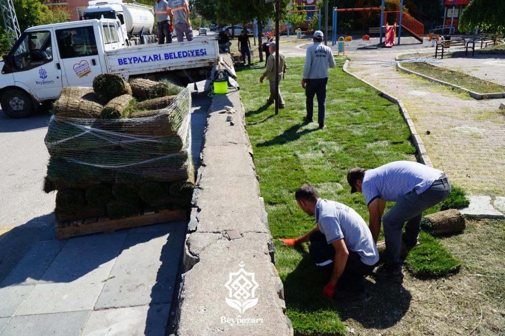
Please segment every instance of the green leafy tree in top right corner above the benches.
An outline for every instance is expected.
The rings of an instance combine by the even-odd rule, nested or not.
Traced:
[[[461,14],[460,31],[470,31],[477,28],[492,32],[505,31],[505,2],[473,0]]]

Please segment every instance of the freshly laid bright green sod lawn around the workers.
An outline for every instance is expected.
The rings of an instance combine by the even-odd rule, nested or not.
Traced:
[[[390,161],[414,160],[415,148],[398,106],[345,74],[341,65],[329,73],[325,122],[328,128],[318,129],[317,103],[315,123],[303,123],[305,91],[300,82],[304,59],[286,61],[287,73],[280,85],[286,108],[277,116],[274,105],[266,103],[268,83],[259,83],[264,68],[256,64],[237,69],[246,128],[274,237],[276,267],[284,283],[287,314],[295,333],[341,334],[345,328],[334,302],[322,295],[327,279],[311,261],[308,244],[293,248],[279,241],[282,237],[298,237],[315,226],[314,218],[296,205],[294,192],[301,184],[311,183],[321,197],[351,206],[368,221],[363,196],[350,194],[347,171],[354,166],[371,169]],[[435,271],[453,268],[450,253],[430,237],[422,236],[421,247],[439,256]],[[416,258],[411,269],[424,270],[426,263],[431,260]]]

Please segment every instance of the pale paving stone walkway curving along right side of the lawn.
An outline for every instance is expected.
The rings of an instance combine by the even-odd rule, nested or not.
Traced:
[[[505,115],[498,109],[505,99],[475,100],[376,62],[395,55],[349,53],[348,70],[403,101],[434,166],[453,185],[471,195],[505,194]]]

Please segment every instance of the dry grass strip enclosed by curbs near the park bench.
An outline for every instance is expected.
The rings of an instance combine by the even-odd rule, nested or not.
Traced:
[[[405,63],[402,64],[402,67],[477,93],[505,92],[505,86],[467,75],[461,71],[436,67],[427,63]]]

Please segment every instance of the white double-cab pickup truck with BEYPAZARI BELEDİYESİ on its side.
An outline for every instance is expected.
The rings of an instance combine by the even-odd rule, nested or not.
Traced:
[[[30,116],[64,86],[92,86],[114,73],[168,79],[179,85],[205,80],[219,63],[215,37],[191,42],[128,46],[118,20],[84,20],[28,28],[0,62],[0,104],[12,118]]]

